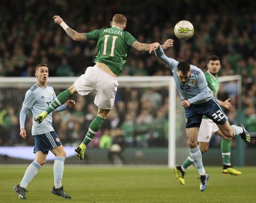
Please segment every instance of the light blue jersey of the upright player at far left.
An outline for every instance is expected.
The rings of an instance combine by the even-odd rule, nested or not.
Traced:
[[[42,88],[37,85],[37,83],[31,87],[25,95],[25,99],[22,105],[22,111],[20,114],[20,126],[25,127],[26,111],[31,109],[33,113],[33,125],[32,125],[32,135],[44,134],[53,131],[52,127],[52,113],[50,113],[44,122],[38,124],[34,118],[43,112],[50,103],[56,98],[53,87],[48,86]],[[66,105],[59,106],[55,111],[67,110]]]

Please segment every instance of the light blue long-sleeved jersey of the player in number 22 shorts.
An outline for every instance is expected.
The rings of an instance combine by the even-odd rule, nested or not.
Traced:
[[[177,67],[179,62],[173,58],[168,58],[163,49],[159,46],[155,50],[157,58],[164,62],[171,70],[174,80],[182,100],[190,101],[190,104],[201,104],[212,98],[213,94],[207,86],[205,74],[201,69],[194,65],[190,65],[191,74],[185,84],[181,83],[177,74]]]

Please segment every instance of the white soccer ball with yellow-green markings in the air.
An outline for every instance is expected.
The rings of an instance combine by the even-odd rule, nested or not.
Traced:
[[[180,40],[188,40],[194,34],[194,27],[189,21],[180,21],[174,27],[175,36]]]

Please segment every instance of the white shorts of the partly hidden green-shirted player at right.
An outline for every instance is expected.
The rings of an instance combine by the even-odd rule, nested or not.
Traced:
[[[209,142],[212,134],[216,133],[219,127],[211,119],[202,119],[197,141]]]

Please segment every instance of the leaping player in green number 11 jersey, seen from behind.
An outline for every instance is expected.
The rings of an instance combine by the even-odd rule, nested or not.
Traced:
[[[59,16],[55,15],[53,18],[55,24],[62,26],[73,40],[96,40],[97,56],[93,58],[95,66],[88,67],[71,87],[60,93],[45,112],[35,118],[35,121],[41,123],[50,112],[64,104],[74,94],[79,93],[84,96],[96,91],[94,103],[98,106],[98,114],[89,125],[83,142],[75,149],[77,157],[84,159],[86,145],[94,138],[113,107],[118,86],[117,76],[122,73],[127,57],[127,47],[131,46],[138,51],[148,51],[149,44],[138,42],[130,33],[124,31],[127,20],[121,14],[113,16],[110,28],[96,29],[89,33],[77,33],[69,28]],[[171,46],[172,41],[168,41],[161,47],[165,49]]]

